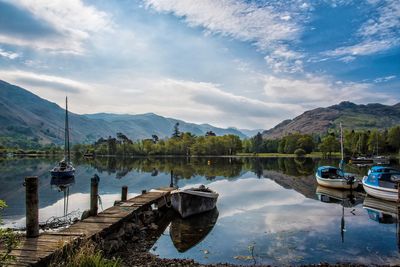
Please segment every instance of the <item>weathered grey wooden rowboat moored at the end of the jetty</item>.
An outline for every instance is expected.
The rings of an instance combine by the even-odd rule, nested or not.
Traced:
[[[215,208],[218,193],[206,188],[177,189],[171,192],[172,207],[182,216],[189,217]]]

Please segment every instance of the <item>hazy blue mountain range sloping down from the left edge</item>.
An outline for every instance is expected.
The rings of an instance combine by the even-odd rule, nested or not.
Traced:
[[[70,99],[73,101],[73,99]],[[65,110],[21,87],[0,80],[0,136],[29,137],[42,144],[63,143]],[[217,135],[235,134],[246,137],[239,130],[222,129],[208,124],[187,123],[153,113],[140,115],[86,114],[70,112],[72,143],[88,143],[100,137],[115,136],[122,132],[131,139],[170,136],[179,122],[181,131],[204,135],[213,131]]]

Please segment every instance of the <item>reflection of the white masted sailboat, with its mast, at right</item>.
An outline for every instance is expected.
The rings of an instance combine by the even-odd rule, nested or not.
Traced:
[[[340,190],[317,186],[316,194],[318,200],[325,203],[337,203],[342,206],[342,219],[340,221],[340,236],[344,242],[345,220],[344,208],[352,208],[362,203],[361,195],[353,190]]]

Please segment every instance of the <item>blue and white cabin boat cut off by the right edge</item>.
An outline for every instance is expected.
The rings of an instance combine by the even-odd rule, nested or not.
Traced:
[[[362,184],[368,195],[389,201],[399,200],[400,170],[375,166],[364,176]]]

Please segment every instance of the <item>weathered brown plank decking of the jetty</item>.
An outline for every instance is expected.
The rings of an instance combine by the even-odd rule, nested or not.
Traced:
[[[137,211],[144,210],[152,204],[164,205],[173,189],[171,187],[158,188],[141,194],[120,202],[100,212],[97,216],[79,221],[60,232],[42,233],[36,238],[23,237],[18,247],[11,252],[11,255],[15,256],[15,261],[9,266],[41,266],[63,249],[120,227],[123,221],[135,216]]]

